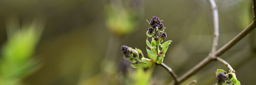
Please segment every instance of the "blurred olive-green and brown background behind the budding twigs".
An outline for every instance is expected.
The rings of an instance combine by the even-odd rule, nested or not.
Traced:
[[[219,11],[218,48],[253,20],[251,0],[215,0]],[[146,52],[153,16],[163,20],[173,40],[164,63],[180,77],[212,47],[208,0],[0,0],[0,85],[167,85],[160,67],[131,68],[120,47]],[[222,56],[242,85],[255,83],[256,30]],[[181,83],[216,83],[211,62]]]

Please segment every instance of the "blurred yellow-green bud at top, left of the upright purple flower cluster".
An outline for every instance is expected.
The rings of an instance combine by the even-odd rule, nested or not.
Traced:
[[[130,34],[143,16],[142,8],[141,0],[109,0],[104,6],[107,28],[117,36]]]

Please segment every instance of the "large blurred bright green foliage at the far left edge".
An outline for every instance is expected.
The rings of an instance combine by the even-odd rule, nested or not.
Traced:
[[[6,21],[8,39],[1,48],[0,84],[20,85],[20,79],[36,70],[38,61],[31,58],[43,31],[39,20],[24,24],[21,28],[17,18]]]

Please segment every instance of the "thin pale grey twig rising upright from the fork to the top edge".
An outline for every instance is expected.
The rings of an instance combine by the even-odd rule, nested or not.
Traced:
[[[212,51],[211,53],[216,51],[218,40],[219,40],[219,16],[218,16],[218,9],[217,5],[214,0],[209,0],[212,8],[212,18],[213,18],[213,27],[214,27],[214,38],[213,38],[213,44],[212,44]]]

